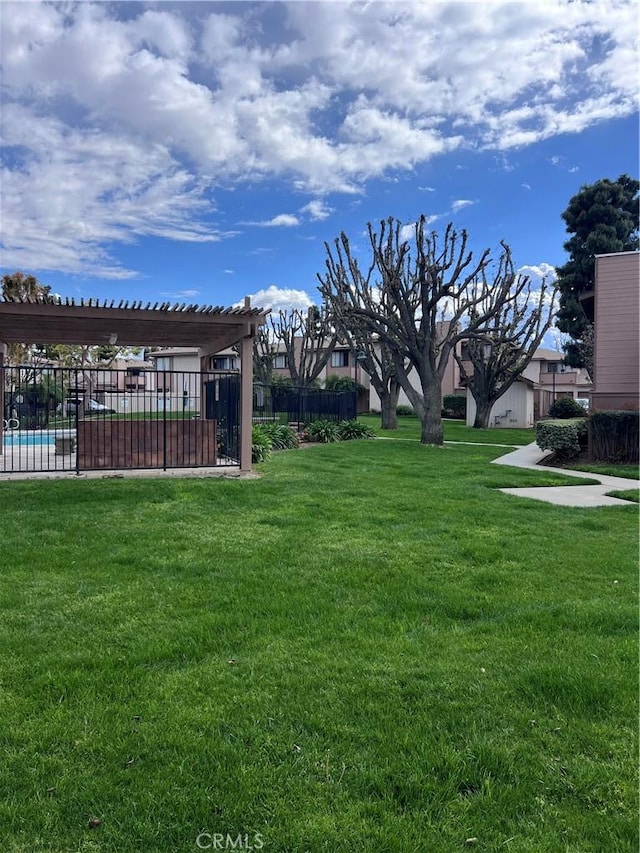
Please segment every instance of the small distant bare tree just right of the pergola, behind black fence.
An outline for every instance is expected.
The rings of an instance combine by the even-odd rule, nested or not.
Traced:
[[[271,314],[268,335],[277,351],[287,356],[291,381],[298,388],[318,379],[338,339],[327,313],[315,305],[306,314],[299,309]]]

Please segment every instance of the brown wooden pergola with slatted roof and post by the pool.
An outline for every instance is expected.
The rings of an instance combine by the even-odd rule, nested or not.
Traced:
[[[199,350],[200,369],[220,350],[238,345],[241,359],[240,470],[251,470],[253,408],[253,338],[268,310],[89,299],[76,301],[54,296],[5,297],[0,301],[0,368],[7,345],[50,343],[119,346],[193,346]],[[0,383],[0,412],[4,412],[4,385]],[[1,446],[1,445],[0,445]]]

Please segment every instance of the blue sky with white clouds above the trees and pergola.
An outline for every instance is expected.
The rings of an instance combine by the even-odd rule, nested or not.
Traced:
[[[635,2],[3,2],[2,272],[66,296],[317,297],[324,241],[421,213],[564,261],[638,173]]]

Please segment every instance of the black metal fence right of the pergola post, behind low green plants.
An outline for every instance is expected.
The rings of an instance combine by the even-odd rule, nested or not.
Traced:
[[[324,391],[254,385],[253,420],[305,424],[316,420],[345,421],[356,417],[355,391]]]

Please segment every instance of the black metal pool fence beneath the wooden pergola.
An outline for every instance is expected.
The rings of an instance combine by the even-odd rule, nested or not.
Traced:
[[[239,399],[238,374],[4,367],[0,471],[238,465]]]

